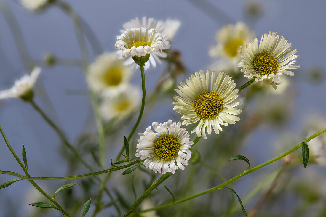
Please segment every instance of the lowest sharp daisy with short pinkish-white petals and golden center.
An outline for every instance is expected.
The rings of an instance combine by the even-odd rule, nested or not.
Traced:
[[[144,133],[139,133],[139,144],[137,145],[136,157],[144,161],[144,166],[154,172],[165,174],[175,173],[175,170],[185,169],[188,165],[191,151],[189,148],[194,144],[189,141],[189,133],[185,128],[181,128],[181,123],[171,120],[164,123],[152,123],[146,128]],[[176,164],[175,164],[176,163]]]

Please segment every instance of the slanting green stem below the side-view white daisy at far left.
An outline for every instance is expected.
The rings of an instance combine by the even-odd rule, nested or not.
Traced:
[[[84,160],[82,157],[79,155],[77,150],[75,149],[74,146],[72,146],[69,141],[67,140],[65,134],[60,130],[60,128],[52,122],[52,120],[45,114],[45,112],[33,101],[27,101],[31,103],[33,108],[38,111],[38,113],[44,118],[44,120],[57,132],[63,143],[67,146],[68,149],[70,149],[71,152],[75,154],[75,156],[82,162],[82,164],[88,168],[89,170],[93,171],[93,168]]]

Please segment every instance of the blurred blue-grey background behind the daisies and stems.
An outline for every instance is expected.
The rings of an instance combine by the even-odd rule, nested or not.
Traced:
[[[19,23],[28,51],[34,61],[42,67],[35,87],[36,102],[62,127],[72,143],[82,132],[96,130],[95,123],[89,121],[92,109],[86,94],[87,84],[82,69],[59,65],[48,68],[42,64],[42,59],[47,52],[52,52],[59,58],[81,58],[71,20],[58,7],[49,7],[40,13],[32,13],[15,1],[5,0],[5,2]],[[326,80],[323,77],[319,82],[311,82],[309,72],[314,68],[324,71],[326,2],[322,0],[257,1],[262,10],[258,19],[251,19],[245,15],[245,7],[252,1],[209,1],[228,17],[219,11],[212,13],[211,9],[202,10],[193,2],[195,1],[70,0],[68,3],[91,26],[103,51],[116,50],[114,47],[116,35],[120,34],[122,24],[130,19],[147,16],[159,20],[167,18],[180,20],[182,25],[173,38],[172,47],[181,51],[188,73],[209,69],[207,66],[213,62],[208,56],[209,46],[215,45],[216,31],[227,23],[243,21],[250,26],[258,38],[266,32],[276,31],[292,42],[293,48],[298,49],[297,63],[301,68],[294,71],[293,78],[289,78],[292,82],[291,90],[293,89],[295,93],[289,125],[280,129],[267,126],[256,130],[248,138],[243,149],[238,152],[247,157],[255,156],[253,165],[262,163],[275,156],[273,145],[282,131],[300,134],[308,114],[325,115]],[[89,58],[93,62],[96,54],[90,52]],[[12,32],[3,14],[0,14],[0,65],[1,90],[10,88],[14,80],[27,73],[24,71]],[[164,68],[163,63],[146,72],[148,92],[154,88]],[[188,76],[189,74],[180,80]],[[141,87],[138,71],[132,83]],[[271,101],[274,100],[273,97],[277,95],[272,96]],[[180,120],[180,116],[172,111],[171,102],[172,99],[151,111],[140,128],[149,126],[153,121],[164,122],[171,117],[174,121]],[[30,174],[33,176],[67,175],[66,162],[59,152],[58,136],[29,104],[15,98],[0,101],[0,124],[19,155],[24,144]],[[127,127],[121,130],[129,132],[128,129]],[[114,142],[122,144],[122,139],[121,137]],[[108,159],[113,158],[119,149],[120,146],[111,149],[107,153]],[[22,173],[2,139],[0,153],[0,169]],[[309,169],[308,167],[306,170]],[[305,174],[307,173],[303,173],[302,176]],[[243,179],[241,185],[249,183],[250,177],[253,178],[254,175]],[[0,183],[10,179],[13,177],[1,175]],[[61,182],[56,181],[37,183],[40,183],[41,187],[46,186],[45,189],[50,191],[61,185]],[[6,207],[9,205],[17,208],[18,216],[25,216],[25,213],[31,209],[28,204],[36,202],[27,199],[28,189],[31,188],[28,181],[20,181],[1,189],[0,216],[7,216]],[[239,190],[239,195],[243,194],[241,191],[244,190]]]

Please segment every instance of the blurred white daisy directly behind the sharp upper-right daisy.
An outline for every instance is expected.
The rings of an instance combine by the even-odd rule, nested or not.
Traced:
[[[237,65],[240,46],[246,45],[253,37],[254,33],[243,22],[225,25],[216,33],[217,45],[210,48],[209,55],[214,58],[224,57]]]

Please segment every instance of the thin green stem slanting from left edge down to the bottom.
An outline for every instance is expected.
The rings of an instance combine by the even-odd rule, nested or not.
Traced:
[[[26,177],[29,177],[29,173],[27,171],[27,169],[25,168],[25,166],[22,164],[22,161],[19,159],[19,157],[17,156],[16,152],[13,150],[13,148],[11,147],[5,132],[3,131],[2,127],[0,126],[0,132],[2,134],[3,139],[5,140],[8,149],[10,150],[10,152],[12,153],[12,155],[15,157],[15,159],[17,160],[18,164],[22,167],[23,171],[26,174]],[[33,180],[29,180],[29,182],[32,183],[32,185],[42,194],[44,195],[48,200],[50,200],[63,214],[64,216],[67,217],[71,217],[66,210],[64,210],[60,204],[58,202],[56,202],[50,195],[48,195],[45,191],[43,191]]]

